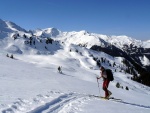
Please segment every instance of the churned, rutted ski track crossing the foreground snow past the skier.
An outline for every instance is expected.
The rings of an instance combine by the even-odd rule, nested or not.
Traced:
[[[87,101],[93,99],[99,98],[86,94],[51,91],[45,96],[39,94],[31,100],[18,98],[18,101],[12,103],[12,105],[8,105],[6,108],[1,108],[0,111],[2,113],[78,113],[82,111],[81,108],[88,103]],[[125,101],[110,100],[109,102],[150,109],[150,106]]]

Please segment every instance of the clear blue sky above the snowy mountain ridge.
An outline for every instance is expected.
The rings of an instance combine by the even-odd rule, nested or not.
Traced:
[[[27,30],[55,27],[150,39],[150,0],[0,0],[0,18]]]

